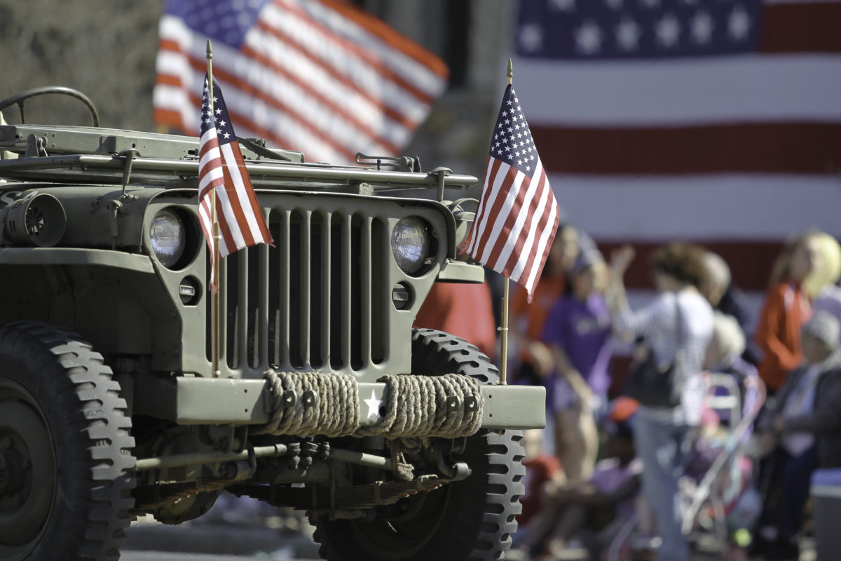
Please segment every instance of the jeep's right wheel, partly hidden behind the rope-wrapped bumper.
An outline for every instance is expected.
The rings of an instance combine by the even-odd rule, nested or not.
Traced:
[[[428,329],[412,334],[412,373],[463,373],[495,382],[488,358],[456,336]],[[405,513],[373,522],[314,520],[320,554],[331,561],[487,561],[510,548],[525,475],[519,431],[480,430],[468,437],[458,461],[472,474],[463,481],[414,495]]]

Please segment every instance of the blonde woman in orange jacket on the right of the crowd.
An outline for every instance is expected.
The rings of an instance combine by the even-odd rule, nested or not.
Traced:
[[[786,374],[803,358],[800,330],[812,315],[812,306],[801,284],[812,273],[818,251],[815,235],[797,236],[785,243],[771,272],[755,336],[764,353],[759,377],[770,393],[780,389]]]

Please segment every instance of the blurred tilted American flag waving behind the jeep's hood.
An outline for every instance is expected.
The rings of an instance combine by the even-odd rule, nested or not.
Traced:
[[[194,130],[208,39],[240,135],[310,161],[399,154],[447,83],[440,59],[349,3],[168,0],[156,124]]]

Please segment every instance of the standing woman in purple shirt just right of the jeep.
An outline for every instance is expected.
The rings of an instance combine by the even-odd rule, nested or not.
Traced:
[[[611,315],[603,294],[606,267],[599,251],[581,251],[569,271],[572,294],[549,312],[543,341],[553,347],[547,379],[555,454],[571,483],[590,477],[599,447],[594,411],[611,384]]]

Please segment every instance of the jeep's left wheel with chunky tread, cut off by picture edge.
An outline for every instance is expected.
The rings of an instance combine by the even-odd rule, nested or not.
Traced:
[[[0,327],[0,560],[119,558],[135,484],[124,410],[79,336]]]

